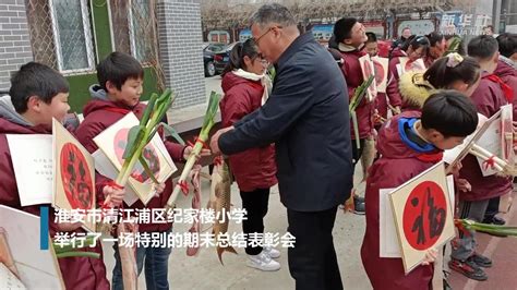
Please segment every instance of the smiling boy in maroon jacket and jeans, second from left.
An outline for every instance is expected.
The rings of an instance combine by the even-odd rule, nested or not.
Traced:
[[[129,112],[134,112],[141,118],[145,110],[145,105],[140,102],[142,95],[142,85],[144,80],[144,70],[140,62],[133,57],[112,52],[97,65],[97,78],[99,85],[89,87],[92,100],[85,106],[84,121],[77,128],[76,134],[79,141],[89,153],[97,149],[93,138],[105,129],[116,123]],[[192,147],[184,147],[166,141],[165,146],[172,160],[183,161],[192,152]],[[99,174],[98,174],[99,176]],[[110,188],[109,180],[106,178],[97,179],[98,192],[105,193],[106,188]],[[109,189],[111,190],[111,189]],[[141,201],[125,208],[164,208],[167,200],[172,193],[172,181],[168,179],[165,182],[165,189],[158,196],[152,198],[146,206]],[[103,201],[104,195],[98,200]],[[171,231],[171,223],[144,223],[139,225],[140,232],[149,234],[167,233]],[[122,289],[122,269],[118,244],[113,245],[116,265],[113,269],[113,289]],[[136,264],[139,274],[142,271],[145,263],[145,281],[148,289],[168,288],[168,259],[171,249],[168,247],[137,247]]]

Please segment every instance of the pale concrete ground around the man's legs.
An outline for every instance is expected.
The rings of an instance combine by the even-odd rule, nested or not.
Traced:
[[[207,168],[204,168],[207,172]],[[209,183],[202,178],[202,206],[209,197]],[[179,207],[189,208],[192,195],[180,195]],[[237,185],[231,188],[231,203],[236,208],[242,208]],[[177,223],[173,232],[188,231],[191,225]],[[202,227],[207,229],[208,225]],[[269,197],[269,209],[265,218],[265,231],[278,232],[280,235],[287,231],[286,208],[281,205],[277,186],[273,188]],[[364,216],[345,214],[339,210],[334,227],[334,241],[341,270],[341,278],[346,289],[370,289],[369,280],[362,269],[359,247],[364,231]],[[241,225],[230,223],[229,232],[242,232]],[[111,280],[112,244],[104,245],[105,263],[108,269],[108,279]],[[245,266],[243,249],[237,249],[238,255],[225,253],[220,265],[215,249],[201,249],[195,257],[187,256],[185,249],[175,249],[169,261],[169,282],[171,289],[293,289],[294,281],[289,275],[287,266],[287,249],[278,247],[281,252],[278,262],[281,268],[274,273],[264,273]],[[145,289],[144,275],[139,278],[139,288]]]

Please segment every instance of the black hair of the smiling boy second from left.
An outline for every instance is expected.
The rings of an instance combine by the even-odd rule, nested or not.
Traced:
[[[130,55],[111,52],[97,65],[97,80],[105,90],[108,81],[121,89],[128,78],[144,78],[144,69]]]

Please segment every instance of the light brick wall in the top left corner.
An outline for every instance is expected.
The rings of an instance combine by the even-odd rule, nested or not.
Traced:
[[[0,90],[10,87],[11,72],[33,60],[24,0],[0,1]]]

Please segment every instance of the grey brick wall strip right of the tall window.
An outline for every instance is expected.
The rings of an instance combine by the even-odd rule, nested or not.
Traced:
[[[200,0],[158,0],[159,58],[173,108],[206,101]]]

